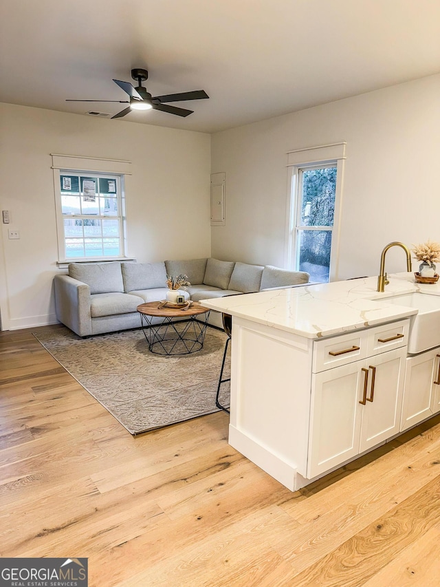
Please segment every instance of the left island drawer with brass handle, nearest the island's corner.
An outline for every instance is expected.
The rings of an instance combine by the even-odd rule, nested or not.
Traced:
[[[341,334],[314,342],[314,359],[312,370],[320,373],[339,365],[348,365],[353,361],[365,359],[367,351],[367,334],[365,330]]]

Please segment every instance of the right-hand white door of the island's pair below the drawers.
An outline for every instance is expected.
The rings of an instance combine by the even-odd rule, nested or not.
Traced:
[[[359,452],[391,438],[400,430],[404,392],[406,348],[366,359],[369,369],[369,396],[362,410]]]

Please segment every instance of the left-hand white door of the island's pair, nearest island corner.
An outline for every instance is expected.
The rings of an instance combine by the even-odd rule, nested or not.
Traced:
[[[359,453],[364,363],[355,361],[312,376],[309,479]]]

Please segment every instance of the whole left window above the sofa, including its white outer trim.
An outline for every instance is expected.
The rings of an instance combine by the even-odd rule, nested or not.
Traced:
[[[58,263],[126,257],[124,187],[129,162],[61,155],[52,155],[52,160]],[[78,171],[79,164],[85,171]],[[94,165],[100,171],[91,171]]]

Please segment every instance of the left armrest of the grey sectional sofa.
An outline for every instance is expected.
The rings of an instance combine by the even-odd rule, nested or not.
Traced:
[[[90,288],[69,275],[55,275],[57,319],[80,337],[91,334]]]

